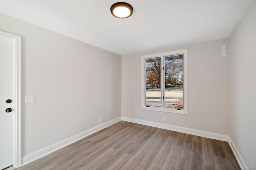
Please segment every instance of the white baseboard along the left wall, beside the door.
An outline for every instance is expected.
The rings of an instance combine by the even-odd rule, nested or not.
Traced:
[[[27,154],[21,158],[21,166],[24,166],[30,162],[33,162],[34,160],[37,160],[39,158],[42,158],[43,156],[46,156],[56,150],[59,150],[63,147],[66,147],[67,145],[70,145],[71,143],[74,143],[88,135],[91,135],[92,133],[95,133],[97,131],[100,131],[101,129],[104,129],[105,127],[108,127],[118,121],[121,120],[121,117],[118,117],[116,119],[113,119],[111,121],[108,121],[106,123],[102,123],[101,125],[98,125],[96,127],[93,127],[91,129],[88,129],[86,131],[83,131],[81,133],[78,133],[77,135],[74,135],[72,137],[69,137],[67,139],[64,139],[60,142],[54,143],[48,147],[45,147],[43,149],[37,150],[33,153]]]

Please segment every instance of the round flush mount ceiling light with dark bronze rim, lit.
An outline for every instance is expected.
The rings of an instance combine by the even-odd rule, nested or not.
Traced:
[[[128,18],[132,15],[133,8],[126,2],[116,2],[111,6],[110,11],[116,18]]]

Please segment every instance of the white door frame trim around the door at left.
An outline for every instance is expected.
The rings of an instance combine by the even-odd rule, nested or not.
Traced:
[[[21,37],[0,31],[0,36],[14,40],[14,119],[13,119],[13,166],[21,166]]]

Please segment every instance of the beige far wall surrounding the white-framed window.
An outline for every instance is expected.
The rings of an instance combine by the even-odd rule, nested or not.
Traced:
[[[122,116],[228,134],[229,41],[227,38],[122,56]],[[222,45],[227,45],[227,57],[221,57]],[[188,115],[142,110],[140,56],[186,48]]]

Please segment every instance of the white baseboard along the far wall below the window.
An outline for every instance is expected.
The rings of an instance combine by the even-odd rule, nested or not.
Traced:
[[[210,139],[216,139],[216,140],[220,140],[220,141],[228,141],[228,135],[223,135],[223,134],[219,134],[219,133],[212,133],[212,132],[201,131],[201,130],[197,130],[197,129],[190,129],[187,127],[168,125],[168,124],[164,124],[164,123],[156,123],[153,121],[146,121],[146,120],[134,119],[134,118],[123,117],[123,116],[122,116],[122,120],[129,121],[132,123],[138,123],[138,124],[142,124],[142,125],[152,126],[152,127],[158,127],[161,129],[167,129],[167,130],[171,130],[171,131],[187,133],[190,135],[207,137]]]

